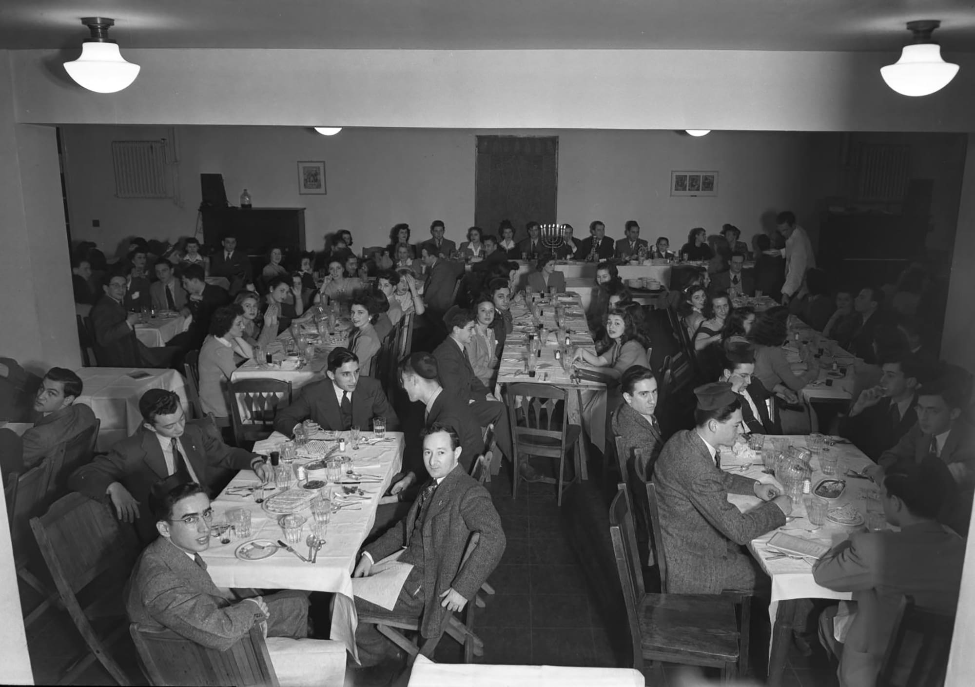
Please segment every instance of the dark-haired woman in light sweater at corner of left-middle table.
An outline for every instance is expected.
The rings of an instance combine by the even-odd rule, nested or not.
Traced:
[[[210,336],[200,347],[200,403],[204,413],[213,413],[215,418],[230,415],[230,376],[253,357],[254,349],[244,340],[243,309],[239,305],[217,308],[210,321]]]

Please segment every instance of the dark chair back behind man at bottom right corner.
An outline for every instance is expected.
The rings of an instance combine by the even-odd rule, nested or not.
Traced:
[[[918,608],[902,596],[877,687],[941,687],[952,650],[955,617]]]

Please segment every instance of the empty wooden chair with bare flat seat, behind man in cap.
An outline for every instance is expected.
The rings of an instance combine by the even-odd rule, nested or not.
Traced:
[[[739,658],[734,605],[712,594],[648,594],[643,587],[633,516],[626,485],[620,484],[609,506],[609,534],[623,589],[633,649],[633,667],[643,662],[720,667],[725,679],[735,675]]]

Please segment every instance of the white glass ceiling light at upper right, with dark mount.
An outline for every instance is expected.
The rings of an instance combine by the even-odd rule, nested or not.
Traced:
[[[902,96],[930,96],[955,78],[958,65],[942,60],[941,46],[931,38],[940,25],[938,20],[908,21],[912,43],[904,46],[900,60],[880,67],[887,86]]]

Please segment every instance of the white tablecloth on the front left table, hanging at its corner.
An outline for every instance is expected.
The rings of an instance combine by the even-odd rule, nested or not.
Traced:
[[[347,435],[347,432],[344,434]],[[203,553],[207,561],[207,572],[214,579],[216,586],[253,586],[258,588],[306,589],[311,591],[331,591],[335,593],[335,606],[331,618],[331,638],[345,643],[345,646],[356,656],[355,630],[356,611],[352,601],[352,571],[356,564],[356,555],[375,522],[375,510],[379,505],[379,498],[389,488],[393,475],[400,471],[403,465],[403,433],[397,431],[386,432],[390,441],[374,445],[362,445],[358,451],[351,449],[345,455],[351,456],[353,466],[361,472],[382,476],[378,484],[363,485],[363,489],[370,492],[370,500],[364,501],[359,510],[342,508],[332,513],[329,523],[326,545],[318,552],[318,561],[311,565],[298,560],[296,556],[286,550],[278,550],[270,558],[259,561],[242,561],[236,558],[234,551],[244,540],[221,545],[212,540],[210,548]],[[363,432],[364,438],[370,438],[371,432]],[[254,444],[254,452],[267,454],[286,437],[274,432],[263,441]],[[298,459],[293,465],[303,465],[307,460]],[[251,470],[241,470],[227,485],[227,489],[243,484],[254,484],[256,475]],[[268,495],[274,492],[268,492]],[[251,537],[249,540],[266,539],[272,542],[284,539],[284,533],[278,526],[277,515],[263,510],[261,505],[254,503],[251,497],[228,496],[226,489],[214,501],[218,514],[229,508],[247,508],[251,511]],[[308,509],[301,514],[311,520]],[[302,530],[304,536],[310,531],[306,523]],[[295,550],[307,553],[304,544],[295,546]]]

